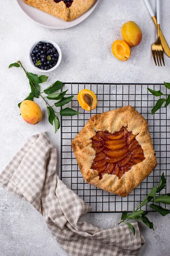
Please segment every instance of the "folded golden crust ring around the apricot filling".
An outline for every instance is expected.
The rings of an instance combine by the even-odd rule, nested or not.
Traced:
[[[91,169],[96,156],[91,138],[97,131],[108,131],[113,134],[122,127],[127,127],[127,131],[136,135],[135,139],[141,145],[145,159],[133,165],[120,179],[107,173],[99,179],[98,171]],[[147,121],[131,106],[92,116],[71,145],[85,181],[122,197],[126,197],[139,186],[157,165]]]

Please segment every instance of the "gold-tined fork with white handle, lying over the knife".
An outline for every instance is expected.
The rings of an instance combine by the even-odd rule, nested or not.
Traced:
[[[160,65],[162,67],[161,64],[161,59],[164,65],[164,50],[161,44],[161,38],[160,38],[160,0],[156,0],[156,9],[157,9],[157,30],[158,30],[158,37],[156,42],[152,45],[152,55],[153,55],[153,59],[155,61],[156,64],[156,60],[159,66],[159,62]],[[157,64],[156,64],[157,66]]]

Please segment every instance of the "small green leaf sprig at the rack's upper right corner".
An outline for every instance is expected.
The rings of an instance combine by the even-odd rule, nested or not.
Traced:
[[[170,89],[170,83],[164,82],[164,86],[167,89]],[[164,93],[162,93],[160,90],[156,91],[156,90],[152,90],[150,88],[147,88],[147,90],[150,91],[150,93],[152,93],[156,97],[164,95]],[[161,108],[161,106],[164,104],[164,102],[166,102],[164,107],[167,107],[170,104],[170,94],[168,94],[168,96],[167,95],[164,95],[164,96],[166,96],[167,98],[166,99],[161,98],[156,102],[156,105],[154,106],[154,108],[151,111],[152,115]]]

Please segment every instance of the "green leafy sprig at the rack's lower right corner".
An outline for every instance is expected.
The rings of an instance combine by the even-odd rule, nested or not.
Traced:
[[[142,221],[144,224],[147,225],[150,229],[153,229],[153,223],[149,221],[149,219],[146,217],[147,212],[144,212],[141,210],[141,207],[144,205],[147,205],[150,201],[153,201],[153,204],[147,205],[150,208],[154,209],[156,212],[158,212],[160,215],[165,216],[170,213],[168,209],[165,209],[157,204],[162,203],[162,204],[170,204],[170,194],[165,194],[165,195],[159,195],[156,196],[156,193],[159,193],[164,187],[166,186],[166,179],[164,177],[164,173],[161,175],[161,180],[159,182],[159,186],[155,186],[152,188],[151,192],[147,197],[144,199],[142,204],[140,204],[135,211],[127,215],[127,212],[122,212],[122,217],[121,221],[118,223],[118,225],[122,222],[127,224],[127,226],[132,230],[133,235],[135,236],[135,228],[133,227],[132,224],[125,222],[125,220],[128,219],[139,219]],[[155,203],[155,204],[154,204]]]

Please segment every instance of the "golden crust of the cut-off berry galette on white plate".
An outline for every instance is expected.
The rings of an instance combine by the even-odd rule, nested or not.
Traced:
[[[71,21],[87,12],[95,0],[74,0],[69,8],[63,1],[55,3],[54,0],[24,0],[24,2],[62,20]]]

